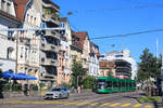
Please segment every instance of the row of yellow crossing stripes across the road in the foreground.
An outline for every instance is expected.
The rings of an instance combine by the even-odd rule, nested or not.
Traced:
[[[143,104],[130,104],[130,103],[89,103],[89,102],[60,102],[60,100],[40,100],[40,102],[25,102],[25,100],[14,100],[14,102],[3,102],[1,104],[51,104],[51,105],[63,105],[63,106],[99,106],[100,108],[106,108],[106,107],[112,107],[112,108],[154,108],[152,105],[143,105]]]

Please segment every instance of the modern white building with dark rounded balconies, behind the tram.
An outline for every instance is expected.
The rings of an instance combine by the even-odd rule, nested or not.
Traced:
[[[136,62],[131,57],[129,50],[123,50],[122,52],[109,52],[100,59],[115,60],[116,72],[121,78],[135,79],[137,73]]]

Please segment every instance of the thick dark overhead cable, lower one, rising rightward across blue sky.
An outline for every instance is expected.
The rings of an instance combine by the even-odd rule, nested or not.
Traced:
[[[118,38],[118,37],[128,37],[128,36],[141,35],[141,33],[159,32],[159,31],[163,31],[163,29],[152,29],[152,30],[138,31],[138,32],[130,32],[130,33],[125,33],[125,35],[113,35],[113,36],[105,36],[105,37],[95,37],[95,38],[90,38],[90,39],[95,40],[95,39],[105,39],[105,38]]]

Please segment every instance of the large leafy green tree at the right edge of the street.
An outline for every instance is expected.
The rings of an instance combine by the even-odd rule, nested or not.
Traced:
[[[140,59],[141,62],[138,63],[137,81],[141,85],[146,82],[150,86],[153,84],[151,79],[156,79],[160,76],[161,58],[158,59],[149,52],[149,49],[145,49]]]

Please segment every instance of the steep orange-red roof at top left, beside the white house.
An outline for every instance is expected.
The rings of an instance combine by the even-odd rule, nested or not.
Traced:
[[[13,0],[16,16],[21,22],[24,19],[25,9],[28,1],[29,0]]]

